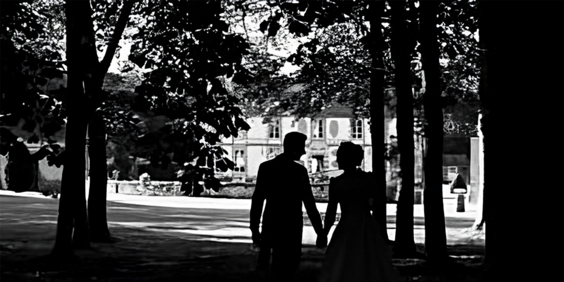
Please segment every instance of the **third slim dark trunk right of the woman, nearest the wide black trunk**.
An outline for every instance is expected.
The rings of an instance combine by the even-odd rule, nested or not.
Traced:
[[[423,105],[427,125],[425,154],[425,253],[433,261],[447,257],[447,235],[443,204],[443,109],[440,103],[437,8],[439,2],[420,2],[421,56],[425,70]]]

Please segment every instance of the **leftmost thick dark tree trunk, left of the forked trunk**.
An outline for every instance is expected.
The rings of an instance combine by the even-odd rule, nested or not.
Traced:
[[[65,2],[67,16],[67,127],[65,131],[65,160],[59,217],[54,254],[67,255],[72,248],[87,248],[90,245],[86,214],[85,170],[86,160],[86,108],[83,81],[86,75],[82,54],[85,46],[94,45],[85,33],[90,20],[90,3],[85,1]],[[91,25],[91,20],[90,20]]]

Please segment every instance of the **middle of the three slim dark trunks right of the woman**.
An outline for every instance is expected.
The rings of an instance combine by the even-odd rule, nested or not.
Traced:
[[[415,154],[413,152],[413,92],[411,89],[411,42],[406,27],[406,3],[390,1],[391,55],[395,65],[397,103],[398,151],[402,173],[402,190],[398,199],[395,245],[396,255],[415,254],[413,236],[413,197],[415,183]]]

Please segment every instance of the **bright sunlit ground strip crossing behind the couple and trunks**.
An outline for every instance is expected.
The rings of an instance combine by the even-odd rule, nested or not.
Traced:
[[[55,231],[58,200],[39,193],[0,191],[0,223],[2,239],[17,233],[29,224],[52,224]],[[324,213],[327,203],[317,203]],[[387,228],[391,240],[395,237],[395,204],[387,205]],[[248,199],[217,199],[205,197],[164,197],[108,194],[109,227],[136,228],[185,240],[206,240],[251,243]],[[305,209],[303,209],[305,213]],[[340,210],[337,210],[340,213]],[[456,213],[456,202],[445,200],[448,244],[479,244],[483,238],[472,239],[468,228],[474,222],[475,211]],[[425,243],[423,205],[415,205],[415,243]],[[303,228],[305,245],[315,245],[316,235],[307,215]],[[333,228],[334,230],[334,228]],[[329,233],[331,238],[332,232]]]

